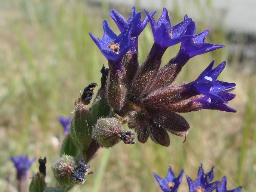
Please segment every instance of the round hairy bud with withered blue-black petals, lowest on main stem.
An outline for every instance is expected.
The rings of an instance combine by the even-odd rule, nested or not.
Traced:
[[[71,156],[63,155],[62,158],[51,166],[53,176],[61,186],[83,184],[87,174],[91,174],[85,164],[79,161],[78,166]]]

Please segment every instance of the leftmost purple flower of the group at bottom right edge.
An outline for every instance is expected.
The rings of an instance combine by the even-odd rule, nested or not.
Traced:
[[[162,191],[164,192],[176,192],[179,189],[179,185],[181,184],[182,176],[183,176],[183,170],[181,170],[181,173],[176,178],[175,175],[172,172],[172,168],[169,166],[168,173],[164,179],[159,177],[157,174],[153,173],[155,176],[155,179],[159,183]]]

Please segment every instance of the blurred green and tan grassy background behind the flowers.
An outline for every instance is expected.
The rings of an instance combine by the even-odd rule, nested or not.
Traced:
[[[75,186],[80,191],[161,191],[153,172],[161,177],[172,166],[176,176],[184,169],[180,192],[188,191],[185,175],[197,177],[203,163],[205,172],[215,166],[215,180],[227,177],[228,190],[243,186],[256,189],[256,14],[253,0],[1,0],[0,1],[0,191],[15,191],[15,167],[9,156],[28,154],[47,157],[48,186],[55,186],[50,165],[59,158],[64,139],[57,116],[69,117],[74,101],[89,83],[100,85],[102,65],[107,60],[90,39],[103,35],[102,21],[119,34],[109,11],[116,9],[126,19],[132,6],[137,12],[163,6],[172,25],[192,18],[197,32],[210,30],[206,42],[224,48],[196,56],[184,66],[176,84],[191,82],[210,64],[227,66],[219,80],[236,83],[237,96],[228,105],[231,114],[201,110],[183,114],[190,123],[186,142],[170,135],[166,148],[148,140],[145,144],[120,144],[100,149],[89,163],[93,175]],[[139,37],[139,57],[144,61],[154,42],[150,25]],[[180,44],[167,49],[163,65],[173,58]],[[96,90],[97,91],[97,90]],[[127,128],[127,127],[126,127]],[[128,128],[127,128],[128,129]],[[57,137],[56,137],[57,136]],[[38,162],[31,166],[38,171]],[[6,180],[9,178],[9,181]],[[11,187],[13,186],[13,187]]]

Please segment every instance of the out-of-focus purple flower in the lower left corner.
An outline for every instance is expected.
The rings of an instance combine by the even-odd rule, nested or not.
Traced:
[[[26,177],[29,168],[32,165],[32,163],[35,161],[36,158],[33,158],[32,160],[28,159],[28,155],[21,155],[16,157],[10,157],[10,160],[14,163],[17,171],[17,179],[21,180],[21,177]]]

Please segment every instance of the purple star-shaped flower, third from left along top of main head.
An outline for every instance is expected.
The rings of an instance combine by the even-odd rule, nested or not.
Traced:
[[[152,28],[155,43],[160,44],[161,48],[164,49],[180,43],[183,40],[193,38],[192,35],[184,35],[189,22],[192,21],[191,18],[187,18],[181,23],[172,27],[168,16],[168,11],[165,7],[163,9],[163,14],[160,16],[157,22],[155,22],[153,16],[149,12],[146,10],[145,12]]]

